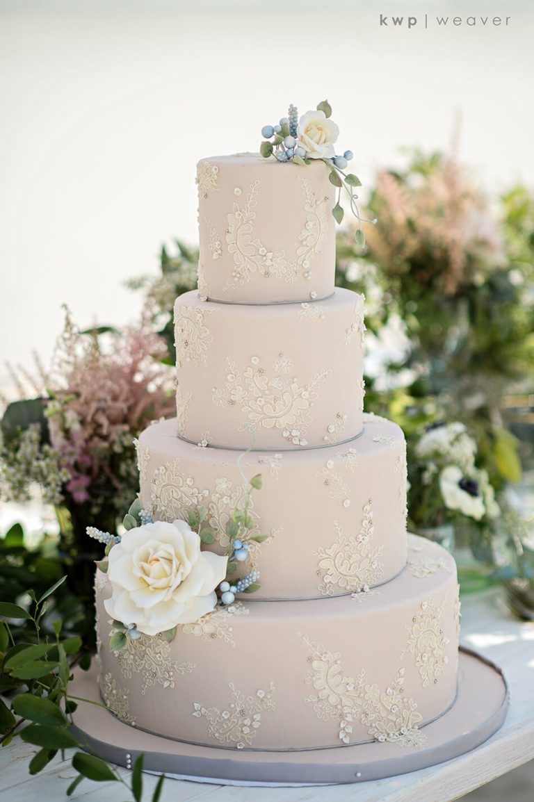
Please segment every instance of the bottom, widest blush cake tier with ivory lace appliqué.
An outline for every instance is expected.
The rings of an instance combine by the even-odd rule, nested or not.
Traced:
[[[110,650],[111,595],[97,572],[99,685],[125,723],[207,746],[304,750],[373,740],[423,745],[456,695],[455,561],[409,537],[407,566],[379,589],[309,601],[245,597]]]

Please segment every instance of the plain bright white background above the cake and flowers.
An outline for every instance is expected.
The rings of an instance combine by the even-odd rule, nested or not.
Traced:
[[[508,28],[378,26],[499,14]],[[493,190],[534,184],[532,2],[0,0],[2,359],[49,358],[67,302],[122,323],[162,241],[196,239],[196,160],[328,97],[369,181],[398,148],[461,152]],[[0,367],[0,375],[3,373]]]

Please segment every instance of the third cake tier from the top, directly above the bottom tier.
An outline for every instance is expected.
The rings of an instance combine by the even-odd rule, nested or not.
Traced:
[[[140,435],[140,496],[157,519],[187,517],[202,505],[216,533],[210,549],[225,553],[226,524],[241,507],[247,480],[261,473],[251,497],[250,569],[261,572],[255,598],[338,596],[374,587],[406,563],[406,444],[388,420],[365,415],[350,444],[305,452],[239,453],[188,444],[176,419]]]

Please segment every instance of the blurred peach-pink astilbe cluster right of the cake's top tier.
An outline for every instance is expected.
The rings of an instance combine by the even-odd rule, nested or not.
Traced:
[[[504,261],[499,222],[454,156],[416,162],[401,175],[378,172],[373,213],[370,257],[402,282],[453,296]]]

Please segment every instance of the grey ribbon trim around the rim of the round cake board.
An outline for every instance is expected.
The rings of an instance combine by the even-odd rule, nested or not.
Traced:
[[[205,749],[204,755],[180,755],[148,751],[147,749],[128,749],[115,743],[106,743],[89,735],[79,727],[73,726],[72,729],[88,751],[94,752],[96,755],[111,761],[111,763],[122,766],[126,763],[131,765],[139,755],[144,754],[145,771],[165,772],[171,776],[180,776],[191,780],[202,779],[212,782],[221,781],[228,784],[235,782],[236,784],[253,785],[348,784],[367,780],[382,780],[385,777],[415,772],[421,768],[434,766],[459,757],[459,755],[463,755],[484,743],[503,724],[509,703],[508,683],[504,678],[503,671],[494,662],[471,649],[461,646],[460,651],[465,654],[471,654],[471,656],[500,674],[504,684],[504,699],[500,707],[472,731],[462,732],[446,743],[435,747],[422,750],[415,749],[414,751],[399,750],[398,757],[394,758],[366,759],[362,764],[358,764],[358,747],[354,744],[347,746],[338,744],[334,747],[344,750],[343,754],[346,755],[344,763],[324,763],[314,756],[305,759],[305,752],[299,764],[292,764],[283,758],[278,762],[276,760],[261,761],[259,758],[257,760],[243,760],[240,759],[241,750],[237,752],[235,749],[227,751],[225,757],[221,758],[214,755],[212,745],[199,747]],[[102,712],[105,715],[107,711]],[[127,727],[126,724],[123,726],[126,729],[126,733],[131,731],[131,727]],[[158,737],[161,736],[159,735]],[[351,751],[353,746],[355,747],[354,751]],[[378,754],[380,754],[380,747],[382,747],[382,744],[377,743]],[[276,752],[272,754],[276,754]],[[284,752],[281,751],[278,754],[283,755]]]

